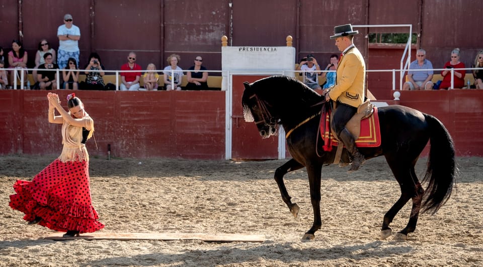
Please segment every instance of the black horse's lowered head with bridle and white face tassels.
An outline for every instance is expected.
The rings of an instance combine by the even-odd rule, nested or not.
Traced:
[[[262,138],[277,135],[279,118],[272,115],[271,106],[251,88],[251,84],[244,82],[242,104],[245,121],[255,122]]]

